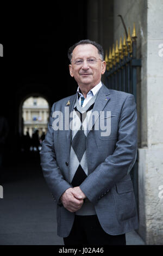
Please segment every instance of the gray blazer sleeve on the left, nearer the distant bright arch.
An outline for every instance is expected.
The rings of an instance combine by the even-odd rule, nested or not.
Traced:
[[[62,193],[67,190],[67,188],[71,187],[71,185],[62,176],[61,170],[56,161],[53,139],[53,133],[55,131],[52,127],[54,105],[55,103],[52,106],[51,116],[48,123],[48,131],[46,133],[45,140],[42,143],[40,157],[43,176],[45,177],[45,180],[53,194],[54,200],[60,204],[59,198],[61,197]]]

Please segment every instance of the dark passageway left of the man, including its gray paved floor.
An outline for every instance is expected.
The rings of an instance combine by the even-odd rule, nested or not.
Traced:
[[[51,107],[76,92],[67,50],[87,37],[86,1],[11,5],[0,18],[0,116],[8,125],[0,161],[0,245],[59,245],[55,204],[43,179],[39,152],[22,152],[18,143],[20,109],[29,95],[45,97]]]

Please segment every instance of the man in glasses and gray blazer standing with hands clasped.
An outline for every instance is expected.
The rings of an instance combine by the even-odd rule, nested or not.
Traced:
[[[58,235],[65,245],[126,245],[126,232],[138,228],[129,175],[137,150],[134,96],[101,82],[106,63],[96,42],[77,42],[68,58],[77,93],[53,104],[40,152]]]

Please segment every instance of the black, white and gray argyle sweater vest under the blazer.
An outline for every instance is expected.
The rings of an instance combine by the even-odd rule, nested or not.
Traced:
[[[86,155],[87,127],[96,96],[97,94],[91,98],[85,107],[79,105],[78,98],[74,105],[70,150],[70,182],[73,187],[80,186],[88,174]],[[84,200],[82,208],[76,212],[76,215],[95,214],[95,208],[88,199]]]

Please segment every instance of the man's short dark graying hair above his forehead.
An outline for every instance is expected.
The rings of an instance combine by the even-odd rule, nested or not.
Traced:
[[[77,47],[78,45],[88,45],[88,44],[94,45],[97,48],[97,50],[98,50],[99,56],[102,58],[102,60],[104,60],[104,50],[103,50],[103,47],[101,45],[99,45],[95,41],[91,41],[89,39],[85,39],[85,40],[81,40],[79,42],[76,42],[76,44],[72,45],[68,49],[68,59],[70,60],[70,62],[71,62],[71,59],[72,59],[72,52],[73,52],[74,48]]]

